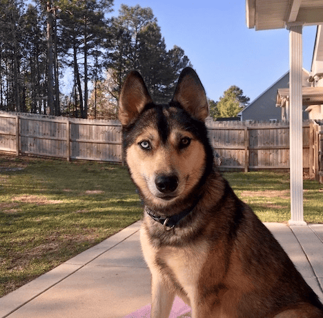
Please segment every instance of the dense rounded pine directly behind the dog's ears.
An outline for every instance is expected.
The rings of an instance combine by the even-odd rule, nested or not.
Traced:
[[[121,6],[112,19],[112,49],[108,57],[109,74],[115,79],[110,92],[119,98],[121,83],[130,70],[138,70],[157,103],[166,103],[173,95],[179,73],[191,66],[184,50],[175,46],[167,52],[164,38],[151,8]]]

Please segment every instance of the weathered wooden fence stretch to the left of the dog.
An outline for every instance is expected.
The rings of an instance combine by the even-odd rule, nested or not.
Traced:
[[[0,150],[121,163],[121,126],[119,121],[0,113]]]

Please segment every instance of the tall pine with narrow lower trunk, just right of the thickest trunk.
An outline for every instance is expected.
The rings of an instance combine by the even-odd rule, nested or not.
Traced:
[[[88,61],[89,58],[92,59],[97,55],[98,47],[101,45],[98,39],[102,37],[106,24],[104,12],[110,11],[112,0],[61,0],[58,2],[62,10],[59,18],[63,52],[72,57],[66,63],[74,70],[80,115],[82,118],[86,118],[88,112],[88,69],[90,69]],[[79,62],[80,59],[83,61],[83,66]],[[83,82],[82,79],[84,79]],[[82,83],[84,83],[84,90]]]

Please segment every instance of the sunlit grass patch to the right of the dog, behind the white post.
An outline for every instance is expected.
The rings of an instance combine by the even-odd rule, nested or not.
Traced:
[[[233,190],[263,222],[291,219],[289,174],[282,172],[225,173]],[[304,179],[304,220],[323,223],[323,185]]]

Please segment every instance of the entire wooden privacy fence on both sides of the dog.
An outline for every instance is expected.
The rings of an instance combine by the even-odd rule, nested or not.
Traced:
[[[221,170],[289,168],[288,123],[207,121]],[[323,123],[303,124],[303,167],[318,179],[323,173]],[[67,119],[0,112],[0,150],[122,163],[119,121]]]

